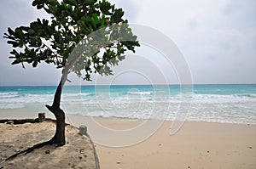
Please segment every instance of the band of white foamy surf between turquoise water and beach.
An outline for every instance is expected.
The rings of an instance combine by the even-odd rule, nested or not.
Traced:
[[[127,90],[126,90],[127,91]],[[178,120],[183,114],[188,121],[256,123],[256,94],[183,93],[130,90],[128,92],[63,93],[61,106],[70,114],[103,117]],[[51,104],[53,92],[0,93],[0,110],[44,107]],[[190,105],[188,112],[181,104]]]

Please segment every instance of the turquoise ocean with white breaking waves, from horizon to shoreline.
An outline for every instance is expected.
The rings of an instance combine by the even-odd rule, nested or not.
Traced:
[[[44,112],[54,86],[0,87],[3,112]],[[256,84],[66,86],[67,114],[178,121],[256,123]],[[186,88],[186,87],[185,87]]]

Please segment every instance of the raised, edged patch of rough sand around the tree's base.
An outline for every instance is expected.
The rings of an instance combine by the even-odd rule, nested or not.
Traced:
[[[34,144],[48,141],[55,133],[55,123],[0,123],[0,168],[96,168],[90,139],[79,134],[77,128],[66,127],[67,144],[61,147],[45,145],[28,154],[21,154],[3,162]]]

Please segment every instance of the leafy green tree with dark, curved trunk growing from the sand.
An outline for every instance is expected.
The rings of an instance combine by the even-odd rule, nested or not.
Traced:
[[[65,144],[65,113],[61,92],[70,72],[90,81],[92,73],[112,75],[112,67],[125,59],[125,51],[139,46],[124,11],[106,0],[34,0],[32,6],[44,9],[50,20],[38,19],[20,26],[4,37],[14,48],[12,65],[37,67],[42,61],[62,70],[52,105],[46,105],[56,118],[55,136],[47,144]],[[96,32],[96,33],[95,33]],[[73,50],[73,49],[76,50]]]

